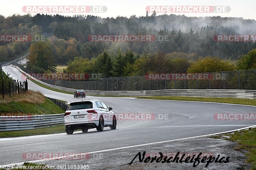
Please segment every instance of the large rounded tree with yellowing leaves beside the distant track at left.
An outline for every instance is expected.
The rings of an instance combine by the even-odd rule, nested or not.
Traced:
[[[52,48],[48,41],[33,42],[30,46],[27,68],[42,68],[44,71],[55,72],[56,64],[53,58]]]

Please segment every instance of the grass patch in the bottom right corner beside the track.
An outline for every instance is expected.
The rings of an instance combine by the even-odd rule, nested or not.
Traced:
[[[237,142],[235,150],[246,150],[247,162],[252,164],[252,169],[256,170],[256,128],[241,130],[231,134],[224,134],[213,138],[221,138]]]

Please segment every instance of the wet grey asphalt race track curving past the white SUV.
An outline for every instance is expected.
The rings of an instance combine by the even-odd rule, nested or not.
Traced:
[[[23,80],[22,78],[24,78],[19,70],[11,65],[3,66],[3,70],[5,73],[8,72],[11,74],[15,79]],[[40,91],[47,97],[68,102],[82,100],[82,98],[74,99],[71,94],[44,89],[30,80],[28,80],[28,88]],[[88,133],[79,132],[73,135],[60,134],[55,136],[50,135],[0,141],[0,165],[29,161],[22,157],[24,153],[87,153],[208,135],[255,125],[255,121],[220,121],[213,118],[215,113],[255,113],[256,107],[252,106],[92,96],[86,96],[85,99],[83,98],[83,100],[92,99],[100,99],[104,101],[108,107],[113,107],[115,113],[151,113],[155,114],[156,119],[117,120],[116,130],[110,130],[110,128],[107,127],[104,128],[103,132],[97,132],[96,129],[90,129]],[[161,114],[168,114],[168,118],[166,118],[166,120],[159,120],[159,118],[161,118],[159,115]],[[160,144],[153,145],[159,146]],[[150,152],[151,147],[150,145],[148,146],[147,151]],[[169,145],[169,147],[172,147],[172,145]],[[140,148],[143,150],[143,147]],[[125,149],[125,151],[127,150],[129,151],[129,148]],[[118,150],[115,150],[112,154],[118,154],[117,152]],[[131,152],[133,156],[129,157],[130,160],[127,160],[126,163],[129,163],[139,151],[132,148]],[[155,152],[161,151],[156,150]],[[109,158],[104,157],[104,160],[108,161],[110,158],[111,156],[109,156]],[[56,161],[58,160],[47,161],[47,164],[51,164],[51,162],[56,164]],[[70,160],[61,161],[61,163],[69,164],[71,162],[72,161]],[[80,163],[83,162],[84,161],[81,160]],[[99,169],[96,164],[93,164],[91,168]],[[100,168],[104,168],[104,165],[101,164]]]

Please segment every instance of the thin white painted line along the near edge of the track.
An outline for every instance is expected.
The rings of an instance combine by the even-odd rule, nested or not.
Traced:
[[[151,144],[161,144],[161,143],[185,140],[185,139],[195,139],[195,138],[200,138],[200,137],[210,137],[210,136],[220,135],[220,134],[224,134],[224,133],[232,133],[232,132],[235,132],[235,131],[244,130],[244,129],[248,129],[248,128],[255,128],[255,127],[256,127],[256,125],[253,125],[253,126],[248,126],[248,127],[241,128],[241,129],[230,130],[230,131],[226,131],[226,132],[214,133],[214,134],[209,134],[209,135],[202,135],[202,136],[196,136],[196,137],[187,137],[187,138],[167,140],[167,141],[154,142],[154,143],[148,143],[148,144],[139,144],[139,145],[126,146],[126,147],[121,147],[121,148],[113,148],[113,149],[106,149],[106,150],[102,150],[102,151],[79,153],[79,154],[74,154],[74,155],[61,156],[61,157],[48,158],[48,159],[39,159],[39,160],[33,160],[33,161],[27,161],[27,162],[29,162],[29,163],[37,163],[37,162],[42,162],[42,161],[47,161],[47,160],[63,159],[63,158],[67,158],[67,157],[75,157],[75,156],[91,154],[91,153],[100,153],[100,152],[114,151],[114,150],[134,148],[134,147],[139,147],[139,146],[146,146],[146,145],[151,145]],[[23,165],[23,164],[24,164],[24,162],[20,162],[20,163],[15,163],[15,164],[3,165],[2,167],[7,167],[7,166],[10,167],[10,166],[15,166],[15,165],[19,166],[19,165]]]

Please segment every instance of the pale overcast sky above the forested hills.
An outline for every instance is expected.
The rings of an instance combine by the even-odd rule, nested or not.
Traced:
[[[193,17],[204,17],[204,16],[221,16],[221,17],[242,17],[244,19],[255,19],[256,20],[256,12],[255,0],[244,0],[244,1],[235,1],[235,0],[44,0],[44,1],[35,1],[35,0],[13,0],[13,1],[5,1],[0,6],[0,15],[5,17],[20,14],[24,15],[31,12],[24,12],[22,10],[23,6],[106,6],[106,12],[83,12],[83,13],[60,13],[61,15],[69,15],[73,16],[75,14],[84,14],[84,15],[94,15],[100,16],[101,18],[106,17],[114,17],[124,16],[130,17],[132,15],[145,16],[146,15],[146,7],[147,6],[229,6],[229,12],[191,12],[191,13],[178,13],[178,12],[166,12],[169,14],[176,15],[186,15]],[[26,9],[26,8],[25,8]],[[87,8],[88,9],[88,8]],[[40,12],[42,13],[42,12]],[[44,12],[46,13],[46,12]],[[49,13],[48,14],[56,14]],[[31,13],[31,15],[35,15],[36,13]],[[152,13],[149,13],[151,15]],[[157,12],[157,15],[162,15],[164,13]]]

